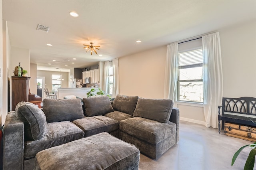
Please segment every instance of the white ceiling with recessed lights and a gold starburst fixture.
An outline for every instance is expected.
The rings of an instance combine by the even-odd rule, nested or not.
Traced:
[[[30,49],[31,63],[54,71],[95,65],[256,19],[255,0],[3,0],[2,8],[11,46]],[[71,17],[70,11],[79,17]],[[50,31],[36,30],[38,24]],[[85,54],[83,44],[90,42],[100,45],[98,55]]]

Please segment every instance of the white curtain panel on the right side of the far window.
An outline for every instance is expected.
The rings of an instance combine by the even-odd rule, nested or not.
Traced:
[[[112,97],[116,97],[119,94],[119,66],[118,59],[113,59],[113,95]]]

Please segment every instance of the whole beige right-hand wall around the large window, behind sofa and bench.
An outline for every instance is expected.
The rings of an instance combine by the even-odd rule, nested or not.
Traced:
[[[252,20],[217,30],[222,51],[224,97],[256,97],[255,25]],[[164,46],[119,58],[120,94],[164,98],[166,51]],[[181,120],[204,124],[202,107],[177,107]]]

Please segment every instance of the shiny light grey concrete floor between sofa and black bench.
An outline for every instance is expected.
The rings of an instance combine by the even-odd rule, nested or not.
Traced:
[[[180,121],[180,140],[158,160],[140,154],[139,170],[242,170],[250,148],[242,150],[231,166],[234,153],[253,142],[219,134],[218,129]],[[254,169],[256,165],[254,165]]]

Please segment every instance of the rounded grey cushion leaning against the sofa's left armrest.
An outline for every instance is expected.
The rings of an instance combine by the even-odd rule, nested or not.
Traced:
[[[24,122],[26,140],[38,140],[44,136],[46,117],[37,105],[21,101],[16,105],[15,115]]]

